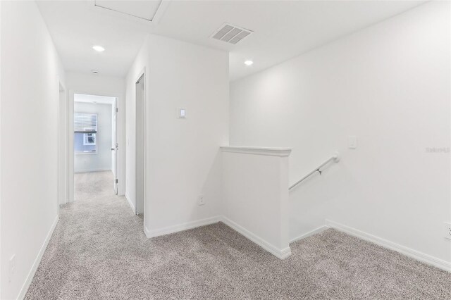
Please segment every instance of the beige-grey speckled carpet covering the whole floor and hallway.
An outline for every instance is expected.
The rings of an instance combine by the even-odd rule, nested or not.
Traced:
[[[147,239],[111,173],[75,182],[26,299],[451,299],[451,273],[331,229],[284,261],[222,223]]]

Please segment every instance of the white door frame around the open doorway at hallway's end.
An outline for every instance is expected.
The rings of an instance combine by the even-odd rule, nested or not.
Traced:
[[[90,89],[69,89],[68,96],[68,203],[74,201],[75,192],[75,181],[74,181],[74,158],[73,153],[73,114],[74,114],[74,95],[75,94],[85,94],[93,96],[107,96],[116,98],[117,106],[119,111],[116,115],[116,142],[119,144],[119,149],[116,151],[116,178],[118,179],[118,185],[122,184],[123,192],[118,189],[118,195],[123,196],[125,194],[125,156],[122,158],[121,153],[125,153],[125,140],[121,136],[121,132],[125,132],[125,121],[122,122],[121,119],[121,103],[125,106],[125,96],[123,94],[115,94],[109,92],[99,92],[97,90]],[[123,110],[123,118],[125,120],[125,109]],[[72,137],[72,138],[70,138]],[[122,165],[124,164],[124,167]]]

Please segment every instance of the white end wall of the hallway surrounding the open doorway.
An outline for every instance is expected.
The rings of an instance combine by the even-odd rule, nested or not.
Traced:
[[[66,87],[69,90],[69,106],[73,107],[74,94],[91,94],[97,96],[113,96],[118,98],[118,137],[119,156],[118,165],[118,194],[125,194],[125,79],[85,73],[66,73]],[[73,126],[73,110],[69,112],[69,123]],[[73,149],[73,140],[70,140],[70,149]],[[72,166],[72,161],[69,165]],[[73,201],[73,172],[69,173],[70,201]]]

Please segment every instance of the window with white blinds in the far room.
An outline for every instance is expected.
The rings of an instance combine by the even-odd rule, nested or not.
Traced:
[[[73,148],[75,153],[97,153],[97,115],[75,113],[73,118]]]

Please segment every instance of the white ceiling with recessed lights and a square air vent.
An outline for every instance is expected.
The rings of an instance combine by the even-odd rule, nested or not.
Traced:
[[[93,2],[38,2],[66,70],[95,69],[102,75],[125,76],[145,35],[154,33],[229,51],[230,80],[235,80],[424,1],[170,1],[156,24],[121,13],[103,13],[93,9]],[[150,5],[142,1],[99,3],[108,2],[129,13],[149,9],[152,15],[160,1],[151,1]],[[211,39],[225,22],[253,30],[254,34],[236,45]],[[97,53],[92,49],[94,44],[104,46],[106,51]],[[244,65],[247,59],[254,65]]]

